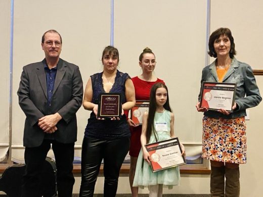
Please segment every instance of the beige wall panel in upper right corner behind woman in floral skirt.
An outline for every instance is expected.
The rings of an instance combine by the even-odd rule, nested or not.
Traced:
[[[237,59],[263,69],[259,57],[263,52],[263,3],[260,0],[211,1],[211,32],[229,27],[236,43]]]

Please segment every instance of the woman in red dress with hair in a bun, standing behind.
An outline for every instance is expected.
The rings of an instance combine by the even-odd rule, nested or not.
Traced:
[[[155,55],[152,50],[146,47],[139,57],[139,65],[142,68],[142,74],[131,78],[135,86],[135,96],[136,101],[149,101],[150,90],[155,83],[161,82],[163,80],[157,78],[154,75],[154,69],[156,65]],[[126,116],[128,115],[125,112]],[[143,113],[140,113],[143,116]],[[141,117],[142,119],[142,117]],[[134,175],[136,170],[137,159],[141,150],[141,134],[142,134],[142,124],[135,123],[132,119],[128,118],[127,122],[130,126],[130,169],[129,169],[129,183],[131,194],[133,197],[138,196],[138,187],[133,187]]]

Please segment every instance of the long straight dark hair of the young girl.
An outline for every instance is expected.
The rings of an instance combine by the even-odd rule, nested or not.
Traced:
[[[158,135],[154,128],[154,117],[155,117],[155,112],[157,108],[155,94],[156,94],[156,90],[160,87],[164,87],[167,91],[167,100],[166,100],[166,103],[163,105],[163,107],[165,110],[172,112],[170,105],[169,105],[169,96],[168,96],[167,86],[163,83],[155,83],[152,86],[151,91],[150,91],[150,104],[149,104],[149,112],[148,112],[147,127],[146,127],[146,143],[149,143],[152,132],[155,136],[156,141],[158,141]]]

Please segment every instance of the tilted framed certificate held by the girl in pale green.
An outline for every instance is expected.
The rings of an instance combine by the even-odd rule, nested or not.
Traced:
[[[145,145],[153,172],[186,164],[178,137]]]

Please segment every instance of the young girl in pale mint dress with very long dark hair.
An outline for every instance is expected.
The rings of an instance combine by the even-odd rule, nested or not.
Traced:
[[[174,115],[169,106],[168,89],[163,83],[156,83],[150,92],[149,112],[143,115],[142,149],[138,157],[133,183],[134,187],[148,186],[149,196],[162,196],[163,185],[171,189],[173,185],[178,185],[180,182],[178,167],[152,172],[151,157],[145,147],[145,144],[148,143],[174,138],[173,123]],[[184,145],[180,145],[185,154]]]

